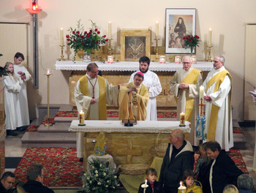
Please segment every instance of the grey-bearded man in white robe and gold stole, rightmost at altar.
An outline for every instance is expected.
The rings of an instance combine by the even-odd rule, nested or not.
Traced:
[[[225,151],[233,147],[231,112],[232,77],[224,67],[225,58],[214,58],[214,69],[203,82],[206,95],[206,139],[216,140]]]

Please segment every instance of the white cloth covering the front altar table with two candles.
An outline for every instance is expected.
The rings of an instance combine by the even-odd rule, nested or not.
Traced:
[[[190,132],[189,121],[186,126],[179,126],[179,121],[137,121],[134,126],[124,126],[121,121],[85,120],[86,126],[78,126],[79,121],[73,120],[70,132],[133,132],[133,133],[170,133],[174,129]]]

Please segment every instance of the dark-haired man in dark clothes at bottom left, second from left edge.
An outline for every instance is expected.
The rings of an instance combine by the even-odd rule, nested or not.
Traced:
[[[43,185],[45,171],[41,164],[34,164],[26,172],[28,181],[23,189],[28,193],[54,193],[52,189]]]

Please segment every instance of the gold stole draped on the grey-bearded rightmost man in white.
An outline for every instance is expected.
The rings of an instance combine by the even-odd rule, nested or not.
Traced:
[[[232,80],[232,77],[230,75],[230,73],[227,70],[222,70],[221,72],[219,72],[217,75],[214,75],[214,77],[211,78],[211,80],[208,81],[207,85],[206,85],[206,92],[208,91],[208,88],[210,88],[214,83],[215,83],[215,87],[214,87],[214,92],[219,90],[219,86],[222,84],[223,80],[225,79],[226,75],[228,75],[230,77],[230,80]],[[229,110],[228,112],[230,113],[231,111],[231,92],[232,92],[232,81],[231,81],[231,88],[230,88],[230,92],[229,92]],[[219,107],[217,107],[216,105],[212,104],[211,107],[211,118],[210,118],[210,125],[208,128],[208,134],[207,134],[207,141],[209,140],[215,140],[215,133],[216,133],[216,126],[217,126],[217,119],[218,119],[218,113],[219,113]],[[230,115],[229,115],[230,118]],[[230,120],[229,120],[230,123]],[[230,126],[229,126],[230,129]],[[230,133],[230,132],[228,132]]]

